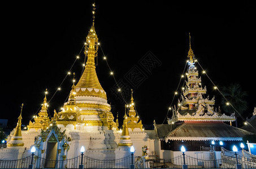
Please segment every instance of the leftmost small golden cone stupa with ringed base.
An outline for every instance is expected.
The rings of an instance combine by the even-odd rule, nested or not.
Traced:
[[[11,140],[8,141],[8,143],[7,143],[8,147],[18,147],[18,146],[24,145],[22,135],[21,135],[22,109],[23,109],[23,104],[21,104],[20,116],[18,118],[17,126],[14,128],[14,134],[11,136]]]

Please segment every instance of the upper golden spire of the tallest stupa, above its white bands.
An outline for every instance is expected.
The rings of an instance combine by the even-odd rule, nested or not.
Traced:
[[[84,73],[79,79],[79,82],[76,84],[76,88],[97,88],[103,90],[96,74],[96,66],[94,59],[94,57],[97,57],[98,55],[98,37],[94,28],[94,14],[95,4],[93,3],[93,24],[86,37],[84,51],[85,57],[87,56],[87,61]]]

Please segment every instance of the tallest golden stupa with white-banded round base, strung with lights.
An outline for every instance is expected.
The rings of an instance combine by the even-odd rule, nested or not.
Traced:
[[[99,83],[96,73],[95,57],[97,57],[99,43],[94,28],[94,14],[95,4],[93,4],[93,24],[85,43],[84,54],[87,58],[85,69],[76,86],[74,86],[74,89],[72,88],[73,92],[75,92],[75,105],[66,104],[66,107],[69,106],[71,108],[73,106],[72,112],[70,113],[76,112],[76,118],[73,118],[74,120],[76,119],[76,122],[73,120],[67,120],[66,122],[61,120],[60,118],[64,118],[61,117],[64,114],[64,110],[62,112],[56,112],[55,117],[57,115],[59,117],[59,119],[57,118],[58,125],[61,123],[64,126],[73,124],[75,126],[74,129],[77,126],[78,130],[84,130],[83,127],[89,127],[91,130],[92,126],[94,126],[94,129],[98,128],[98,126],[103,126],[111,130],[113,127],[117,128],[116,123],[114,122],[114,116],[110,112],[111,106],[107,103],[106,92],[103,90],[101,83]],[[71,114],[68,114],[68,116],[70,117]],[[73,115],[73,117],[75,116]]]

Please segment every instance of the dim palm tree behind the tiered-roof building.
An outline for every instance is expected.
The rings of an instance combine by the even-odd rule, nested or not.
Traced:
[[[226,113],[235,112],[236,117],[236,127],[237,127],[237,117],[241,116],[242,113],[247,109],[247,102],[245,97],[248,96],[246,91],[242,91],[240,84],[232,83],[228,87],[222,87],[221,92],[224,97],[222,98],[222,109]],[[237,110],[235,110],[232,106]]]

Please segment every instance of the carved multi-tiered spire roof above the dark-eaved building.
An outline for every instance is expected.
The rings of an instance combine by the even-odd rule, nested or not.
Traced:
[[[188,51],[188,70],[186,72],[186,86],[183,87],[181,100],[178,101],[177,109],[173,109],[172,119],[169,123],[175,121],[235,121],[235,116],[220,113],[220,109],[214,109],[215,98],[205,97],[206,86],[201,84],[197,60],[194,57],[193,50],[189,41]]]

